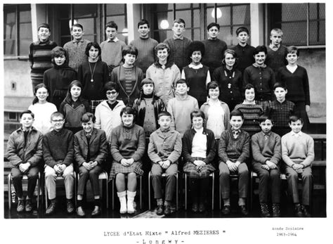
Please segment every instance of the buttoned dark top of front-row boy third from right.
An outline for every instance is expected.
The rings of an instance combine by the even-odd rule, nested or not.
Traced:
[[[223,131],[218,144],[218,157],[222,162],[246,162],[249,158],[250,137],[247,131],[240,130],[237,139],[233,138],[231,129]]]

